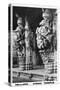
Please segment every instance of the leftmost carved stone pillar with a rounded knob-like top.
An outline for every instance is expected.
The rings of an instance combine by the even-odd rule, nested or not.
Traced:
[[[25,46],[24,46],[24,28],[22,18],[17,20],[17,27],[13,32],[13,59],[18,62],[20,70],[24,70],[25,65]]]

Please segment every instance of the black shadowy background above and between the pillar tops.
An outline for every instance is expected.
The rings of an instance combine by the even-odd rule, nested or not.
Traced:
[[[35,32],[36,27],[39,25],[39,22],[42,18],[42,9],[32,8],[32,7],[13,7],[13,30],[17,27],[17,17],[18,14],[20,17],[25,20],[25,17],[28,18],[30,28]]]

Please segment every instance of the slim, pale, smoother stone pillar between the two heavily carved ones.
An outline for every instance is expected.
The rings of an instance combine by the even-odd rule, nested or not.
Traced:
[[[26,70],[32,69],[32,49],[30,47],[30,34],[28,21],[25,23]]]

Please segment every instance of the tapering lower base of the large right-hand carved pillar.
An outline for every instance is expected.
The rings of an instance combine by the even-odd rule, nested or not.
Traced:
[[[57,73],[57,52],[40,52],[47,73]]]

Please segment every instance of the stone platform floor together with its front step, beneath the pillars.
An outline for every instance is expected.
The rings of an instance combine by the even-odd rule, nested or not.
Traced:
[[[13,70],[13,82],[34,82],[34,81],[54,81],[56,74],[48,74],[46,69],[20,71],[19,68]]]

